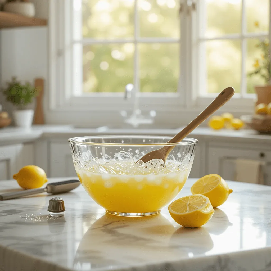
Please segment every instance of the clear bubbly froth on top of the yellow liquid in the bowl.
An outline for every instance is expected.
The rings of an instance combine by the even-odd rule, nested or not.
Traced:
[[[135,152],[138,153],[139,150],[135,150]],[[137,161],[137,157],[135,158],[135,160]],[[153,173],[154,175],[156,175],[185,171],[185,166],[183,164],[176,165],[175,163],[173,163],[173,161],[165,164],[162,159],[153,159],[146,163],[144,163],[143,161],[135,163],[135,160],[130,153],[120,151],[119,153],[115,153],[114,158],[109,157],[107,154],[101,159],[92,158],[89,161],[84,162],[83,167],[89,172],[102,174],[104,180],[107,179],[108,174],[149,175]],[[107,183],[107,185],[110,186],[109,183]]]

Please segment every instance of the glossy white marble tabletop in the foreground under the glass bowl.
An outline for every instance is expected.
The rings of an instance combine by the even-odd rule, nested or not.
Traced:
[[[62,218],[49,217],[46,193],[0,201],[0,271],[271,270],[271,187],[228,184],[227,202],[195,229],[176,224],[167,208],[144,218],[106,215],[82,186],[62,195]],[[14,190],[15,181],[0,182],[0,193]]]

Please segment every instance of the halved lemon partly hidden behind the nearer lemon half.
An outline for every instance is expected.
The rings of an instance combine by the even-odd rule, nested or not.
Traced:
[[[231,192],[233,191],[229,189],[227,183],[217,174],[206,175],[191,187],[192,194],[207,196],[214,208],[223,204]]]

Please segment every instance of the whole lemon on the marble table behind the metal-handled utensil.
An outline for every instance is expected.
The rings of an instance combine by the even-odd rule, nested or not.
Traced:
[[[47,182],[44,170],[33,165],[22,167],[17,174],[13,175],[13,179],[17,180],[24,189],[40,188]]]

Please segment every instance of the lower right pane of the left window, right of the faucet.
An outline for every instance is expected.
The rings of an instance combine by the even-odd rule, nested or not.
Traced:
[[[141,92],[177,92],[179,51],[178,43],[139,44]]]

